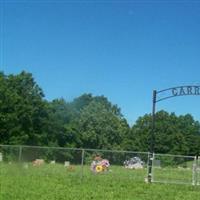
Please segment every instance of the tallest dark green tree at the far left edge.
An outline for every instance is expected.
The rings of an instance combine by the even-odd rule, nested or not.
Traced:
[[[42,144],[47,112],[44,94],[32,74],[0,75],[1,143]]]

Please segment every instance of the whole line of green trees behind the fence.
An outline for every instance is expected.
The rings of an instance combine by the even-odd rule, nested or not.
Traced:
[[[47,101],[31,73],[0,73],[0,144],[148,151],[151,114],[130,127],[104,96]],[[200,123],[190,114],[156,113],[155,152],[197,155]]]

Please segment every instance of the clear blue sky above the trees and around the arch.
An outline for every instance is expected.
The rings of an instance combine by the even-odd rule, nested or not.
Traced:
[[[48,100],[105,95],[133,124],[153,89],[200,85],[200,1],[0,2],[0,70],[31,72]],[[157,109],[200,120],[200,96]]]

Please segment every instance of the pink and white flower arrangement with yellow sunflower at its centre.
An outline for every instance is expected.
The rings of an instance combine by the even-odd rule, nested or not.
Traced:
[[[110,163],[107,159],[102,159],[100,156],[96,156],[91,163],[91,171],[95,173],[106,172],[109,170]]]

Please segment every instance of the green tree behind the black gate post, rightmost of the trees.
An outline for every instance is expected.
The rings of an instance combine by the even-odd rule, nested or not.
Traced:
[[[150,145],[152,116],[139,117],[131,129],[133,149],[147,151]],[[200,125],[190,114],[156,113],[154,151],[159,153],[196,155],[199,152]]]

